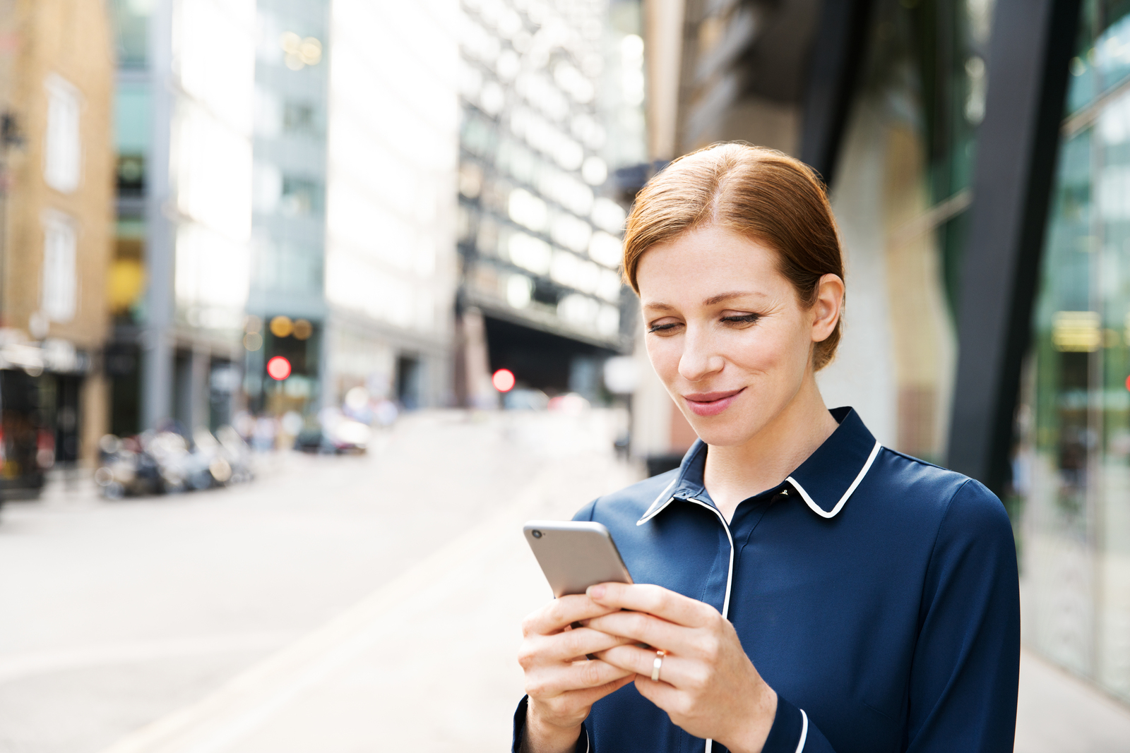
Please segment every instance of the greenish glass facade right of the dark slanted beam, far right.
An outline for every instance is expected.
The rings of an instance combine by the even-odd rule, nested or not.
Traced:
[[[1130,8],[1079,30],[1017,414],[1024,637],[1130,701]]]

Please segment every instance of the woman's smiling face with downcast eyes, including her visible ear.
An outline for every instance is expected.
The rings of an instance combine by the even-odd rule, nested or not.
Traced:
[[[636,281],[652,366],[715,446],[745,444],[789,406],[811,378],[812,343],[835,327],[843,292],[838,277],[825,275],[817,304],[803,306],[776,252],[716,227],[649,248]]]

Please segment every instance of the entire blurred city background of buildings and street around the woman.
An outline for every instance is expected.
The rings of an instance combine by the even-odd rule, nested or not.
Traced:
[[[1015,750],[1130,753],[1110,0],[0,0],[0,753],[506,750],[522,522],[698,438],[632,270],[720,142],[827,200],[826,405],[1005,505]]]

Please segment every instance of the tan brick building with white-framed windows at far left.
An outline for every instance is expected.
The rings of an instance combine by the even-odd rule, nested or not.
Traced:
[[[0,2],[0,395],[40,469],[92,459],[105,429],[113,70],[104,2]],[[6,449],[5,478],[37,471]]]

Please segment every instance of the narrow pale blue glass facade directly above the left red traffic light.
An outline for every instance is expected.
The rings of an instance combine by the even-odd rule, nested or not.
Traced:
[[[320,406],[325,324],[328,0],[259,0],[252,272],[243,386],[253,413]],[[267,362],[281,356],[290,376]]]

